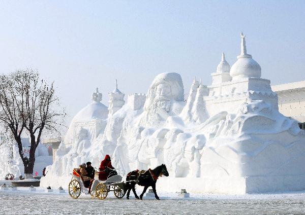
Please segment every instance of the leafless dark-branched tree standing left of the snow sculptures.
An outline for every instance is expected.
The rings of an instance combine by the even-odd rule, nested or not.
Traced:
[[[46,131],[59,132],[65,110],[58,108],[53,83],[48,86],[33,69],[16,70],[0,75],[0,122],[12,132],[23,161],[25,178],[33,177],[35,151]],[[29,133],[29,157],[23,155],[21,135]]]

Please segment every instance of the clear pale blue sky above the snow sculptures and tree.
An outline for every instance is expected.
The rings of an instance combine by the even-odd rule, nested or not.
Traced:
[[[271,85],[305,80],[305,1],[2,1],[0,73],[37,68],[54,81],[70,117],[98,87],[147,93],[154,77],[179,73],[210,85],[224,52],[247,53]]]

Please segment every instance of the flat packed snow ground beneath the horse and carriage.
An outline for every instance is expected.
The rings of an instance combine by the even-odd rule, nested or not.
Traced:
[[[81,194],[72,199],[69,193],[36,192],[18,187],[18,191],[0,191],[2,214],[305,214],[305,190],[289,193],[244,195],[190,194],[177,198],[177,193],[158,192],[160,201],[148,198],[136,200],[126,196],[117,199],[113,192],[99,200]],[[138,195],[141,189],[137,188]]]

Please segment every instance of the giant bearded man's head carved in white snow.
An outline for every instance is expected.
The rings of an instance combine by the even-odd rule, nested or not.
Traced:
[[[169,116],[181,113],[183,105],[180,105],[179,101],[183,100],[181,76],[177,73],[159,74],[148,89],[144,112],[138,125],[146,128],[163,125]]]

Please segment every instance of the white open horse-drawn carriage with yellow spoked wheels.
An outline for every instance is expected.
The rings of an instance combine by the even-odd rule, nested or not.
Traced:
[[[99,180],[99,173],[95,172],[94,180],[90,181],[90,185],[85,187],[80,169],[73,169],[71,182],[69,183],[69,194],[76,199],[81,193],[90,194],[92,197],[105,199],[109,192],[113,191],[116,198],[123,198],[126,193],[126,184],[121,182],[122,176],[113,175],[107,178],[106,181]]]

